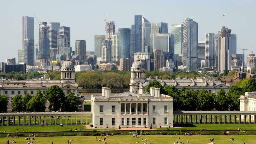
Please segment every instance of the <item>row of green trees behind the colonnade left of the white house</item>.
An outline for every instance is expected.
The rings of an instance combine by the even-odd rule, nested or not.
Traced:
[[[38,90],[35,95],[25,96],[16,95],[12,100],[12,106],[16,112],[44,112],[45,103],[49,101],[49,109],[52,111],[77,111],[79,99],[75,93],[71,92],[67,96],[58,85],[53,85],[48,88],[44,95],[41,90]],[[8,97],[0,95],[0,109],[2,112],[7,111]]]

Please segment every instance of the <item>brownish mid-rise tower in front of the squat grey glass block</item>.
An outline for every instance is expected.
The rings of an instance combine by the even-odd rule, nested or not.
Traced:
[[[165,67],[165,53],[162,49],[154,50],[154,71],[158,71],[159,69]]]

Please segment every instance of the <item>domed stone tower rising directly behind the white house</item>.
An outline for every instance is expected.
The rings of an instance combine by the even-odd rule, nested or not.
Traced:
[[[145,83],[144,63],[139,55],[131,66],[130,92],[138,93],[140,83]]]

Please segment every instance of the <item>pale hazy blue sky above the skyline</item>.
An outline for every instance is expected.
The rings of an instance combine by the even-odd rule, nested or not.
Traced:
[[[39,21],[60,22],[70,27],[70,45],[86,40],[86,51],[94,51],[94,35],[104,34],[104,15],[118,28],[130,28],[134,15],[142,15],[151,23],[181,24],[193,18],[199,25],[199,41],[205,33],[218,33],[222,25],[237,34],[237,48],[245,48],[245,56],[256,47],[255,0],[0,0],[0,61],[16,58],[22,49],[22,16],[37,16]],[[226,14],[225,23],[223,14]],[[34,18],[34,38],[38,42],[39,26]],[[255,49],[255,48],[254,48]],[[254,51],[255,52],[255,51]],[[238,49],[237,53],[243,53]]]

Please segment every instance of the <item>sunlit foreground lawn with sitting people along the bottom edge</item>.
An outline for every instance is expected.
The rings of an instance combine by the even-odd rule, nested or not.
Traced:
[[[216,144],[233,144],[233,143],[250,143],[256,144],[255,135],[138,135],[139,138],[132,138],[131,135],[126,136],[108,136],[106,141],[108,144],[144,144],[141,139],[147,139],[145,143],[154,143],[154,144],[172,144],[174,141],[178,140],[178,137],[181,139],[179,142],[186,143],[187,140],[189,144],[207,144],[210,141],[210,138],[214,138],[214,143]],[[234,141],[228,141],[232,137]],[[65,144],[68,140],[75,140],[76,142],[72,142],[72,144],[102,144],[101,141],[96,141],[95,136],[61,136],[61,137],[35,137],[38,140],[34,140],[33,142],[36,144]],[[97,136],[99,140],[101,136]],[[102,137],[103,138],[103,137]],[[18,144],[27,144],[28,141],[24,140],[25,138],[0,138],[0,143],[6,143],[7,140],[12,141],[15,140]]]

